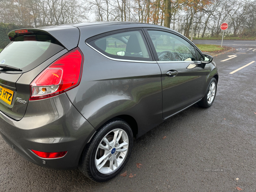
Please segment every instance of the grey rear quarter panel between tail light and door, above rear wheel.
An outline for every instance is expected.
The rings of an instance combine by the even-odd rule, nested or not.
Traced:
[[[81,31],[81,37],[84,33],[90,32]],[[87,46],[85,40],[79,42],[84,54],[81,82],[67,96],[88,122],[98,129],[113,117],[129,115],[137,122],[138,137],[163,122],[157,63],[113,61]]]

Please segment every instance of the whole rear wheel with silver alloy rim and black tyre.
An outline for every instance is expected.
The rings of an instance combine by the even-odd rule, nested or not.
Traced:
[[[132,146],[133,133],[128,123],[122,119],[108,121],[84,148],[78,168],[91,180],[110,180],[127,163]]]

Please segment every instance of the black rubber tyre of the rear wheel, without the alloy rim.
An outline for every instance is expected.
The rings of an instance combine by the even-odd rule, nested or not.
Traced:
[[[125,157],[125,160],[123,161],[122,165],[119,166],[118,169],[116,169],[115,172],[110,173],[110,174],[102,174],[100,173],[95,164],[95,156],[96,156],[96,151],[97,148],[102,141],[102,139],[108,134],[110,131],[120,128],[124,130],[129,139],[129,147],[128,147],[128,153]],[[131,149],[133,146],[133,133],[128,125],[127,122],[119,119],[115,119],[111,122],[107,122],[105,125],[102,126],[102,128],[99,128],[99,134],[96,134],[93,139],[91,140],[90,143],[88,143],[88,146],[86,146],[83,154],[83,171],[86,172],[86,176],[89,176],[90,179],[98,182],[105,182],[107,180],[112,179],[116,175],[119,174],[119,172],[124,168],[125,164],[127,163],[130,155],[131,155]]]

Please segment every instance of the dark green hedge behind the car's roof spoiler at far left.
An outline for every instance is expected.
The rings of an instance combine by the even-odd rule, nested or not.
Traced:
[[[24,28],[24,26],[9,23],[0,23],[0,49],[5,48],[10,43],[8,33],[12,30],[21,28]]]

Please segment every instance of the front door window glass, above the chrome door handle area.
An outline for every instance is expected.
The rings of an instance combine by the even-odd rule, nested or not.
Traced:
[[[163,31],[148,30],[157,51],[159,61],[195,61],[194,47],[177,35]]]

